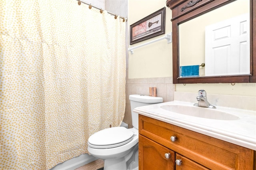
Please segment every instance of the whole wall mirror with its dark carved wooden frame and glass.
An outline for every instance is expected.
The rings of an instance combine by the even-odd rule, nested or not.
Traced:
[[[172,10],[173,83],[256,82],[256,2],[167,0],[166,5]]]

